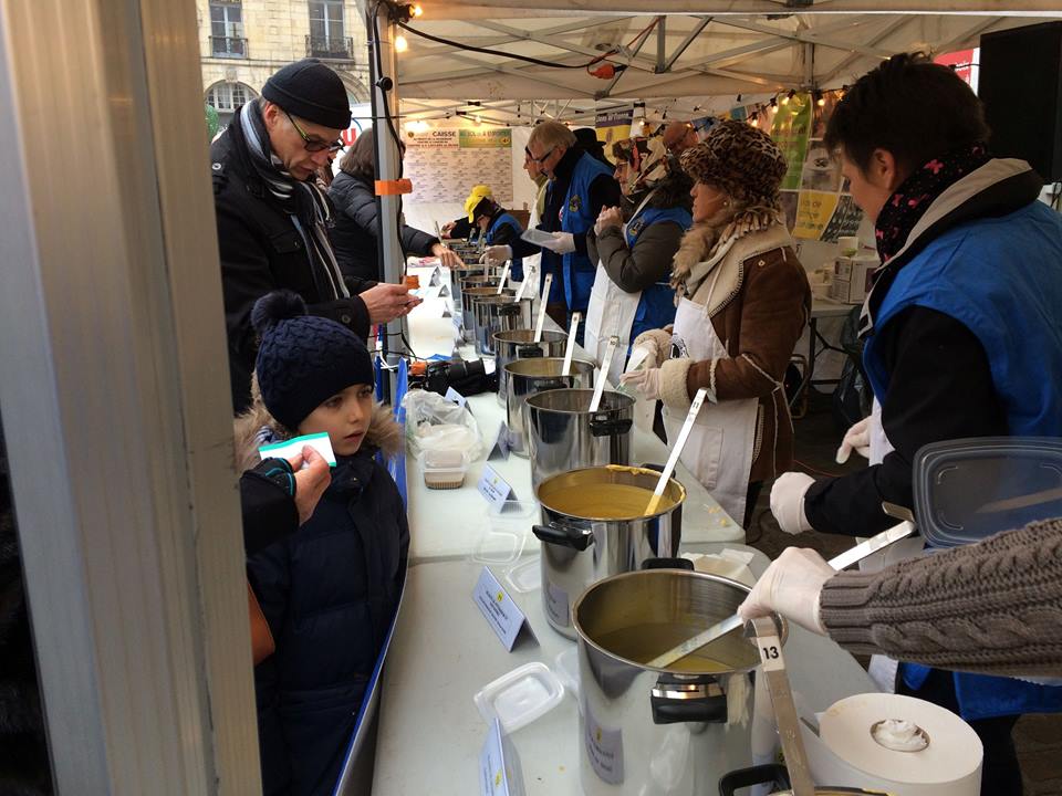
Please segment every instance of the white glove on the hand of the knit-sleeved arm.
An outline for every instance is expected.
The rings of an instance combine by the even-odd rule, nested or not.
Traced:
[[[814,551],[787,547],[756,582],[738,607],[738,615],[748,621],[777,611],[802,628],[825,636],[819,597],[823,584],[834,575],[833,567]]]

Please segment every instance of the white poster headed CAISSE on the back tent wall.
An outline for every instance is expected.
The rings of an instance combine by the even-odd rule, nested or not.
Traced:
[[[403,176],[413,180],[409,202],[464,202],[472,186],[489,185],[494,199],[512,202],[512,130],[428,129],[408,133]]]

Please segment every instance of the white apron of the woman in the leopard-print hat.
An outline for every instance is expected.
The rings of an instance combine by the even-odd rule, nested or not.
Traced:
[[[704,304],[695,304],[684,296],[675,313],[671,343],[678,346],[681,356],[694,362],[729,358],[707,312],[707,307],[711,306],[711,294],[721,271],[721,268],[716,270]],[[717,404],[706,401],[679,457],[683,464],[738,525],[745,521],[758,406],[759,400],[756,398]],[[667,406],[664,407],[664,428],[667,430],[668,440],[678,437],[686,415],[686,410],[676,412]]]

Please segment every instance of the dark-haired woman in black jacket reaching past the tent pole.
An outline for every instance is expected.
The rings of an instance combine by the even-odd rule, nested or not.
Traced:
[[[347,149],[340,160],[340,174],[329,187],[329,198],[337,211],[329,238],[344,276],[382,279],[376,254],[379,219],[376,217],[375,182],[376,149],[369,129]],[[400,234],[402,248],[407,254],[435,255],[447,268],[461,265],[461,259],[438,238],[407,224],[402,226]]]

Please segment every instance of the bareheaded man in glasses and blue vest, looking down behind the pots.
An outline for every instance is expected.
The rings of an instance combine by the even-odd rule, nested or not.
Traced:
[[[552,243],[542,247],[542,276],[553,273],[553,290],[560,289],[560,293],[551,292],[549,303],[556,306],[563,296],[565,323],[575,312],[585,317],[596,271],[596,263],[586,254],[586,232],[604,208],[620,205],[620,185],[612,176],[613,169],[579,146],[575,134],[560,122],[535,125],[525,151],[550,178],[545,213],[538,227],[553,237]],[[519,240],[511,247],[491,247],[486,261],[500,263],[538,251],[539,247]],[[582,324],[579,332],[582,341]]]

